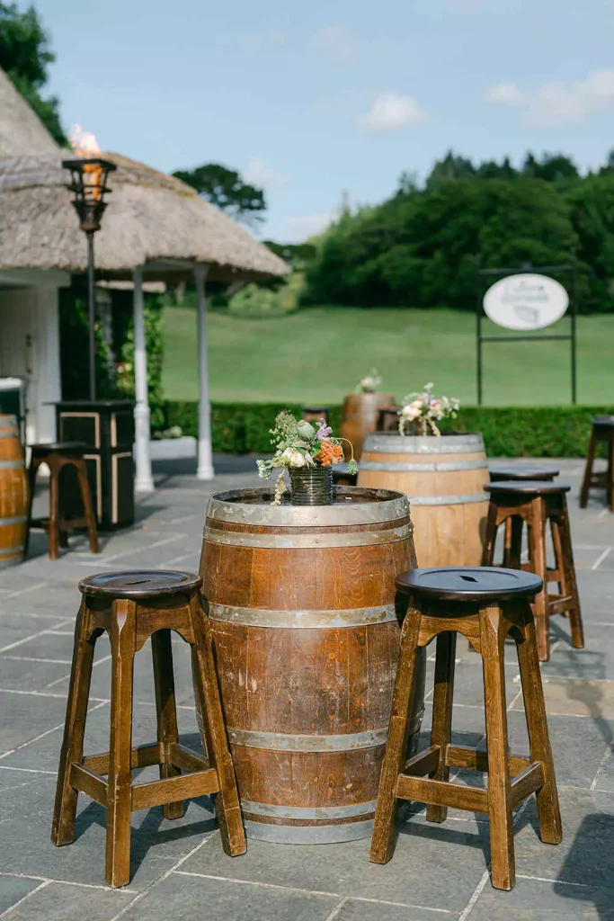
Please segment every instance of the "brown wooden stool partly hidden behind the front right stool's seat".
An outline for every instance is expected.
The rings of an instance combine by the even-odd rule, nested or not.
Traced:
[[[484,489],[491,494],[486,523],[482,565],[492,566],[497,528],[511,520],[511,541],[504,563],[513,569],[536,573],[543,588],[535,597],[533,610],[538,630],[539,659],[550,659],[550,625],[552,614],[566,613],[576,649],[585,646],[580,599],[573,565],[572,533],[569,527],[566,493],[571,486],[537,480],[490,483]],[[550,523],[554,547],[554,567],[546,562],[546,525]],[[528,562],[521,563],[522,530],[527,525]],[[548,583],[558,582],[558,593],[549,592]]]

